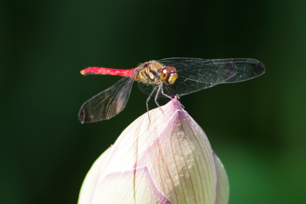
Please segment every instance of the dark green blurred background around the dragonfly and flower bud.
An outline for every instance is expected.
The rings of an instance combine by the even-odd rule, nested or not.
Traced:
[[[118,76],[169,57],[254,58],[266,73],[181,98],[230,180],[230,204],[305,203],[305,1],[1,1],[0,203],[76,203],[96,158],[146,112],[78,121]],[[153,102],[151,108],[155,108]]]

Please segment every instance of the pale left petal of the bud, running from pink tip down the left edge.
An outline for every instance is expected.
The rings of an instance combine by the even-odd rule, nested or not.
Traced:
[[[79,204],[91,203],[91,195],[96,184],[109,173],[132,169],[137,155],[141,155],[148,143],[152,143],[175,110],[182,108],[177,100],[173,100],[173,102],[162,106],[162,109],[163,112],[159,109],[150,111],[151,124],[149,129],[147,114],[136,119],[121,133],[115,144],[95,161],[82,184]]]

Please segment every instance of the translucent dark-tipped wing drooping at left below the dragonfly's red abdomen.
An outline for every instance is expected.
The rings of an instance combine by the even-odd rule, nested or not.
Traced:
[[[79,111],[80,122],[83,124],[108,120],[120,113],[128,102],[133,81],[133,77],[126,76],[84,102]]]

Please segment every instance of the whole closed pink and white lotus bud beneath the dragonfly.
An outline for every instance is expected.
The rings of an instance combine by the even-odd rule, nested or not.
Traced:
[[[226,172],[203,130],[176,98],[162,110],[150,111],[149,128],[147,114],[139,117],[98,158],[84,180],[79,204],[227,203]],[[136,200],[132,167],[137,167]],[[124,198],[118,196],[122,192]]]

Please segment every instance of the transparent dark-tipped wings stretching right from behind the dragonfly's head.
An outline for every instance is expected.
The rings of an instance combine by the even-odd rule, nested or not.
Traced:
[[[171,88],[178,95],[190,94],[220,83],[252,79],[265,71],[263,64],[253,59],[169,58],[158,62],[177,69],[178,78]]]

